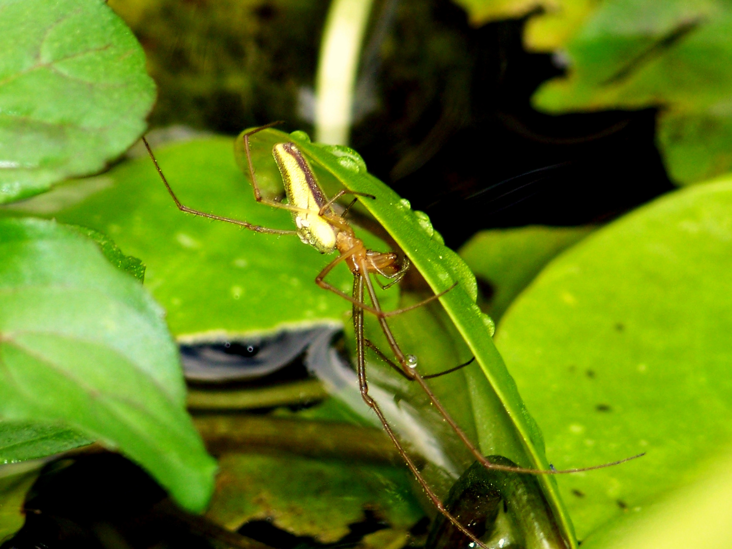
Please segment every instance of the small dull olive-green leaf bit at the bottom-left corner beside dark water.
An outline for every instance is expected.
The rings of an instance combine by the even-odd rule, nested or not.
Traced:
[[[26,494],[38,478],[43,462],[0,466],[0,543],[23,528]]]

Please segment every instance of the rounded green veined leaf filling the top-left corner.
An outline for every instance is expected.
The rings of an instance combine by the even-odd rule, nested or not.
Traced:
[[[154,83],[103,0],[0,0],[0,203],[100,171],[145,128]]]

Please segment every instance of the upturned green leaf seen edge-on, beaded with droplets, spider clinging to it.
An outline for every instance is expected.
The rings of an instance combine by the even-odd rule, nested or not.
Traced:
[[[433,230],[427,216],[413,212],[408,201],[399,198],[389,187],[368,174],[363,161],[351,149],[318,146],[310,143],[302,132],[287,135],[277,130],[265,130],[258,136],[266,143],[295,141],[313,165],[324,173],[321,181],[325,184],[327,175],[350,190],[376,196],[376,200],[364,200],[362,204],[404,250],[433,291],[444,291],[459,283],[440,301],[466,343],[468,352],[474,354],[480,366],[461,374],[469,378],[470,390],[467,397],[460,395],[471,406],[480,449],[485,455],[507,455],[523,466],[548,468],[541,433],[526,411],[513,379],[493,346],[490,337],[493,322],[475,304],[475,277],[458,255],[442,244],[441,236]],[[455,364],[451,362],[450,365]],[[556,484],[546,476],[539,477],[539,482],[562,535],[572,545],[572,525],[564,512]]]

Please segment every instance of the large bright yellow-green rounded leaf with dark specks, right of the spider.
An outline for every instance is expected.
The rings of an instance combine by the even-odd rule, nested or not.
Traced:
[[[541,418],[580,539],[732,443],[732,181],[667,195],[556,258],[496,344]]]

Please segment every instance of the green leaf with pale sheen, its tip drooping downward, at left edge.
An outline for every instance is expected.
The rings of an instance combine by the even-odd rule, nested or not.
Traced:
[[[162,311],[78,231],[0,220],[0,417],[119,448],[200,510],[215,463],[184,411]]]

